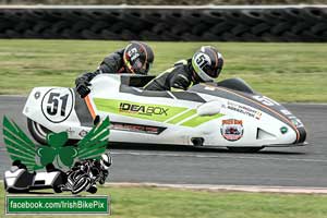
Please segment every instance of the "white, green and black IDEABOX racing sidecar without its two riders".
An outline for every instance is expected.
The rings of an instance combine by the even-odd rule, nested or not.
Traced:
[[[150,76],[101,74],[82,99],[74,88],[36,87],[23,113],[39,143],[49,131],[82,138],[97,116],[110,118],[110,141],[228,147],[253,152],[305,144],[303,123],[279,102],[230,78],[185,92],[144,90]]]

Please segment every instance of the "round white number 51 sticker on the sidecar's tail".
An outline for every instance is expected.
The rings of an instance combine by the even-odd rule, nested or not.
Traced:
[[[73,93],[70,88],[52,88],[43,98],[44,116],[53,123],[68,119],[74,106]]]

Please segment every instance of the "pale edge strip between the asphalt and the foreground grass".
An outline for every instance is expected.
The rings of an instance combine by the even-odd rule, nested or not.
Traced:
[[[294,193],[294,194],[327,194],[327,187],[304,186],[263,186],[263,185],[216,185],[216,184],[160,184],[109,182],[105,186],[113,187],[168,187],[179,190],[205,190],[213,192],[254,192],[254,193]]]

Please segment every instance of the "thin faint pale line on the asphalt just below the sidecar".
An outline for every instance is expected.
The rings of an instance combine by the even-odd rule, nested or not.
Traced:
[[[233,159],[258,159],[258,160],[284,160],[284,161],[304,161],[304,162],[327,162],[327,159],[301,159],[301,158],[275,158],[275,157],[255,157],[237,155],[195,155],[195,154],[172,154],[172,153],[137,153],[137,152],[111,152],[112,155],[131,156],[159,156],[159,157],[194,157],[194,158],[233,158]]]

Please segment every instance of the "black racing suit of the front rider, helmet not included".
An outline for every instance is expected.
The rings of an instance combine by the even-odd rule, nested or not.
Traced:
[[[145,87],[145,90],[171,90],[179,88],[186,90],[191,85],[203,82],[193,71],[191,59],[177,62]]]

